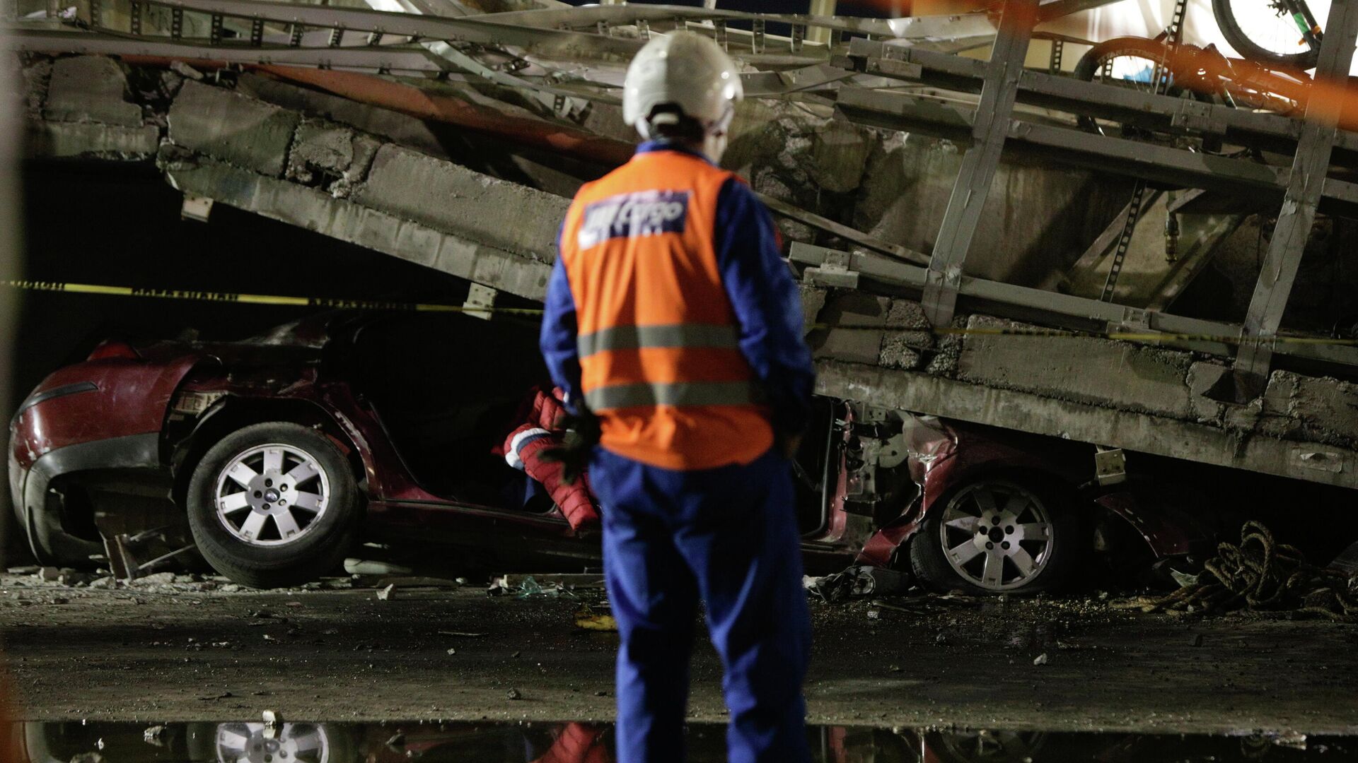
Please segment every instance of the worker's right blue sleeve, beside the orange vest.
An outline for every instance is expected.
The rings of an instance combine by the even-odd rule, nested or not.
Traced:
[[[717,266],[740,323],[740,352],[763,383],[774,429],[800,433],[816,373],[803,339],[801,295],[778,251],[769,210],[732,178],[717,197]]]

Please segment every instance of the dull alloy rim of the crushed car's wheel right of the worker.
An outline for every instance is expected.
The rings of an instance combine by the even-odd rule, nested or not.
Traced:
[[[938,540],[953,572],[986,591],[1031,584],[1051,562],[1051,515],[1032,491],[1012,482],[978,482],[942,512]]]

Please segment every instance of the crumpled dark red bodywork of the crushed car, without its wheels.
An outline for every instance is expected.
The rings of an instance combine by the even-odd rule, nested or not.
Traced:
[[[61,512],[43,505],[48,485],[57,477],[81,470],[160,470],[171,483],[183,485],[193,466],[186,453],[194,443],[208,439],[198,434],[210,429],[216,417],[230,421],[230,411],[247,405],[261,410],[291,405],[304,406],[308,420],[323,422],[323,430],[341,449],[361,463],[367,527],[373,534],[598,559],[598,540],[572,534],[558,509],[535,513],[448,491],[436,494],[416,477],[380,411],[345,376],[345,365],[326,360],[327,352],[341,352],[333,349],[340,339],[330,331],[348,330],[352,348],[361,330],[353,326],[361,326],[361,320],[367,318],[349,315],[341,320],[331,314],[247,342],[160,342],[141,349],[139,358],[106,357],[53,372],[11,425],[11,493],[34,553],[45,563],[69,563],[72,557],[87,558],[99,550],[91,538],[69,536]],[[200,410],[181,406],[181,401],[204,405]],[[904,466],[919,485],[919,497],[896,519],[872,528],[862,510],[846,510],[860,486],[847,466],[847,451],[830,448],[826,477],[831,490],[826,494],[822,487],[819,527],[803,538],[808,559],[818,557],[820,566],[842,565],[857,554],[860,563],[889,565],[949,490],[997,468],[1042,472],[1073,486],[1089,478],[1089,445],[1067,444],[1067,453],[1050,439],[933,417],[902,417],[909,451]],[[851,410],[846,418],[851,422]],[[486,451],[493,445],[488,441]],[[1142,516],[1145,506],[1133,500],[1105,497],[1103,504],[1158,544],[1157,553],[1188,544],[1176,536],[1172,523]]]

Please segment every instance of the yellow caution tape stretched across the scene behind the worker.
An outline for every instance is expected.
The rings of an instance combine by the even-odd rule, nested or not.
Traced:
[[[458,304],[430,304],[413,301],[353,300],[337,297],[297,297],[282,295],[243,295],[235,292],[208,292],[194,289],[149,289],[141,286],[109,286],[103,284],[72,284],[64,281],[0,281],[0,285],[33,292],[65,292],[72,295],[105,295],[118,297],[155,297],[193,301],[225,301],[242,304],[274,304],[289,307],[323,307],[331,310],[394,310],[411,312],[496,312],[501,315],[538,315],[540,308],[528,307],[474,307]],[[1153,331],[1074,331],[1069,329],[953,329],[949,326],[902,329],[887,326],[842,326],[812,323],[808,329],[847,331],[889,331],[898,334],[982,335],[982,337],[1074,337],[1088,339],[1119,339],[1126,342],[1215,342],[1224,345],[1290,343],[1358,346],[1358,339],[1331,337],[1240,337],[1217,334],[1161,334]]]

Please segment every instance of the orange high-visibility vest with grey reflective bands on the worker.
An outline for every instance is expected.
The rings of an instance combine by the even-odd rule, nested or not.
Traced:
[[[581,187],[566,213],[581,391],[614,453],[698,470],[773,445],[713,247],[731,178],[680,151],[638,153]]]

